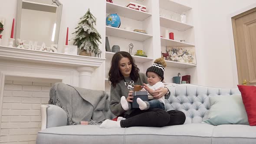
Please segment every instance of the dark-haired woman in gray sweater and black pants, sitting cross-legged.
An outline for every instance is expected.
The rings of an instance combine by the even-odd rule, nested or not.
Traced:
[[[110,110],[114,115],[122,116],[124,120],[105,120],[100,125],[100,128],[128,128],[133,126],[163,127],[184,124],[186,117],[181,111],[164,111],[159,108],[144,111],[140,109],[125,111],[121,107],[121,96],[124,95],[126,101],[132,102],[133,85],[144,85],[147,83],[146,75],[139,73],[137,65],[135,65],[134,60],[128,52],[121,51],[115,53],[108,75],[108,80],[111,82]],[[148,87],[144,88],[148,90]],[[168,88],[159,88],[153,93],[158,93],[154,98],[170,95]]]

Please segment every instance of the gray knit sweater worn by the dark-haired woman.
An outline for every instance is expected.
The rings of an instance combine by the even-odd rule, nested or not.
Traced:
[[[131,78],[130,77],[126,77],[125,78],[126,82],[130,82]],[[121,107],[121,96],[125,96],[125,98],[128,97],[128,93],[129,93],[129,89],[126,87],[125,85],[125,81],[121,80],[119,83],[116,84],[115,87],[113,87],[111,85],[111,89],[110,89],[110,95],[111,95],[111,103],[110,103],[110,110],[112,111],[112,113],[116,116],[122,115],[123,113],[125,114],[130,114],[131,111],[133,109],[131,109],[130,111],[125,111],[122,107]],[[134,83],[134,85],[143,85],[143,83],[147,84],[147,76],[144,73],[139,73],[139,78],[138,81]]]

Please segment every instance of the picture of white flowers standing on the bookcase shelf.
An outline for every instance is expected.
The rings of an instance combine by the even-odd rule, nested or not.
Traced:
[[[166,51],[170,61],[197,64],[194,47],[167,46]]]

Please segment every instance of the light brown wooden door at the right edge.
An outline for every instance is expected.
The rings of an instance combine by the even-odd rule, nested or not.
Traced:
[[[238,81],[256,85],[256,8],[232,17]]]

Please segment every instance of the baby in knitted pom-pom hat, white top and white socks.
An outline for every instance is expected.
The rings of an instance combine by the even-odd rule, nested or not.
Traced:
[[[164,87],[164,68],[166,67],[166,62],[164,59],[159,58],[154,61],[154,63],[147,69],[146,75],[148,77],[148,84],[145,87],[150,88],[148,90],[148,100],[149,101],[142,101],[141,98],[137,98],[137,103],[141,110],[147,110],[149,108],[161,108],[164,109],[164,97],[154,99],[151,95],[153,91],[157,90],[158,88]],[[143,88],[142,90],[145,91]],[[154,93],[157,95],[157,93]],[[125,96],[121,97],[121,106],[122,108],[127,111],[131,109],[131,104],[126,101]]]

